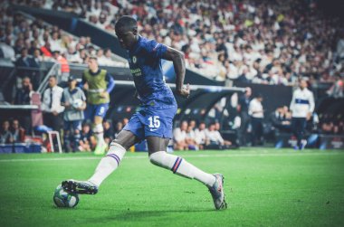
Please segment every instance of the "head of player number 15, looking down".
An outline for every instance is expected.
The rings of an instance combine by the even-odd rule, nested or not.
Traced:
[[[138,22],[129,15],[123,15],[115,25],[119,44],[124,49],[131,49],[138,42]]]

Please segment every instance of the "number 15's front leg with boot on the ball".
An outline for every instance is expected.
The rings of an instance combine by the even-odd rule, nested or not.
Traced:
[[[118,168],[126,151],[138,141],[139,138],[132,132],[120,131],[118,137],[111,142],[107,155],[101,158],[91,178],[87,181],[63,181],[63,189],[77,194],[97,194],[100,184]]]

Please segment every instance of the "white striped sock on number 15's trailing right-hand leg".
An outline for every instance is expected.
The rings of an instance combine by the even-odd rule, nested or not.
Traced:
[[[207,174],[196,166],[186,162],[184,158],[167,154],[165,151],[153,153],[149,156],[149,160],[156,166],[170,169],[174,174],[182,175],[186,178],[195,178],[207,186],[213,186],[215,183],[214,175]]]

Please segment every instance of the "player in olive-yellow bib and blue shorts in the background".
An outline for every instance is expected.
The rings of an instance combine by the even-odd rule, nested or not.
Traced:
[[[105,153],[108,145],[104,141],[102,119],[109,109],[110,92],[115,86],[115,81],[106,70],[100,70],[97,57],[91,56],[88,61],[89,69],[83,71],[82,84],[87,90],[87,109],[85,118],[93,121],[92,131],[97,138],[95,155]]]

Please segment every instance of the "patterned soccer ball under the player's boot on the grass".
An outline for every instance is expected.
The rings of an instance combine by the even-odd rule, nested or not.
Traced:
[[[53,203],[57,207],[74,207],[79,203],[78,194],[70,194],[63,190],[62,185],[58,185],[53,193]]]

